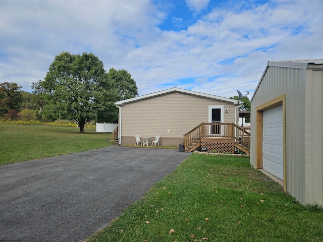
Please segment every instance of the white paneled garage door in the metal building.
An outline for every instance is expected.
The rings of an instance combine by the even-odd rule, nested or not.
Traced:
[[[283,105],[263,111],[262,169],[283,180]]]

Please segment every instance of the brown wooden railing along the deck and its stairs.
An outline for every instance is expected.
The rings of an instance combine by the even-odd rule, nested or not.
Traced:
[[[250,146],[250,127],[233,123],[202,123],[184,135],[185,149],[201,138],[230,138]]]

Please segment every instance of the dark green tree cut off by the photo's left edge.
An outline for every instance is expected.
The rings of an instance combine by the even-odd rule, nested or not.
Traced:
[[[17,83],[4,82],[0,83],[0,113],[4,116],[6,113],[17,113],[22,103],[22,95]],[[13,115],[11,115],[12,117]]]

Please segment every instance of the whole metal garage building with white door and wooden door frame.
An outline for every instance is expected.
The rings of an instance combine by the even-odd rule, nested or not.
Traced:
[[[251,98],[250,163],[323,206],[323,59],[268,62]]]

